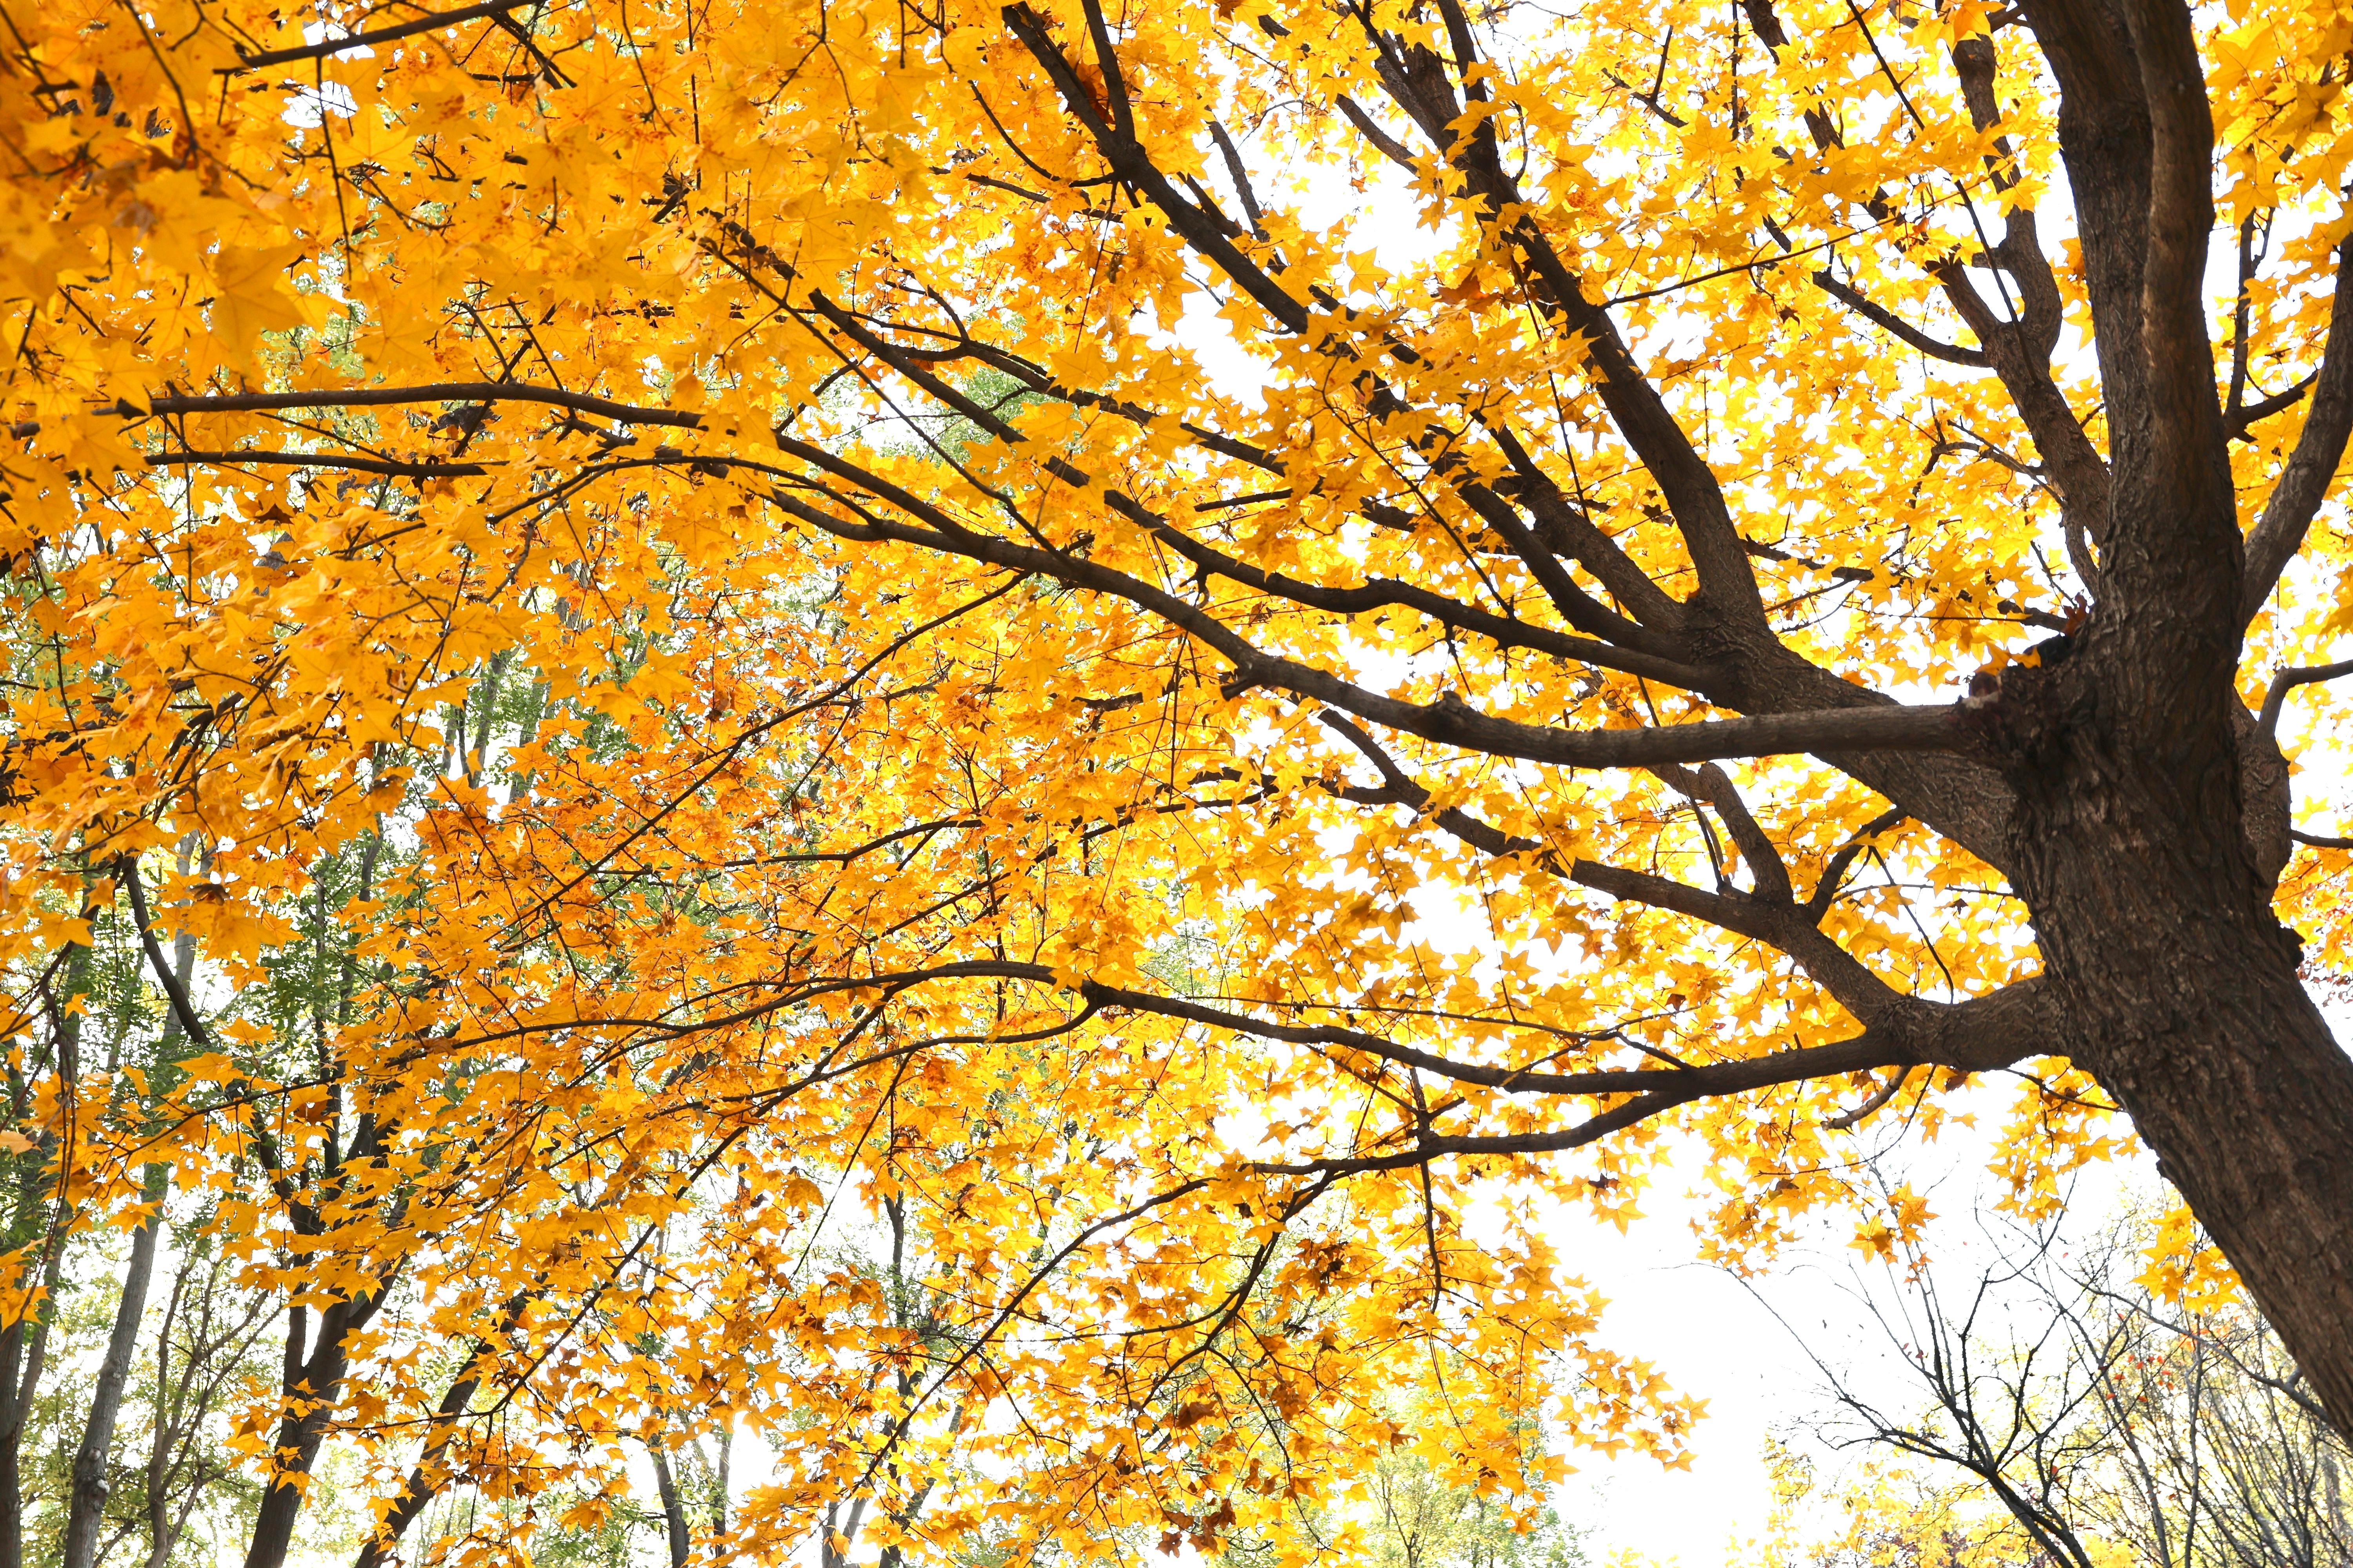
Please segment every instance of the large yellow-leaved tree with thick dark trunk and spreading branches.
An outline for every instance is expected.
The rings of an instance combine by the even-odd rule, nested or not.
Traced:
[[[162,1140],[254,1568],[344,1434],[598,1495],[642,1345],[746,1549],[1306,1554],[1405,1363],[1445,1483],[1680,1450],[1537,1204],[1901,1239],[1866,1119],[2017,1070],[2019,1201],[2122,1107],[2353,1422],[2332,16],[14,16],[0,1371]],[[68,1048],[106,919],[184,1084]],[[793,1265],[901,1201],[915,1338]]]

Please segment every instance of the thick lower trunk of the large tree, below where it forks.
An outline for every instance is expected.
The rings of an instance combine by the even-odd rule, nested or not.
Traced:
[[[2075,686],[2075,712],[2033,748],[2040,766],[2014,773],[2012,851],[2071,1023],[2064,1048],[2132,1114],[2353,1432],[2353,1058],[2271,912],[2231,729],[2134,745],[2066,679],[2002,703],[2057,686]]]

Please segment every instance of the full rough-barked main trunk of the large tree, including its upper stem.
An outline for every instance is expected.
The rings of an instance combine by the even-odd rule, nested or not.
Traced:
[[[2214,143],[2191,16],[2028,0],[2028,19],[2061,87],[2113,494],[2078,646],[1986,708],[2012,877],[2066,1053],[2353,1432],[2353,1058],[2271,912],[2280,780],[2235,693],[2249,574],[2200,299]]]

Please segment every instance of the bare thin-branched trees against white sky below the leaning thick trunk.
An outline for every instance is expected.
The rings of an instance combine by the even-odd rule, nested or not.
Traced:
[[[2174,1248],[2144,1215],[2073,1246],[2047,1225],[1988,1241],[1960,1291],[1911,1255],[1864,1293],[1897,1385],[1866,1392],[1814,1352],[1838,1410],[1812,1434],[1882,1455],[1842,1500],[1849,1544],[1927,1514],[2054,1563],[2346,1559],[2344,1439],[2242,1300],[2184,1305],[2148,1267]]]

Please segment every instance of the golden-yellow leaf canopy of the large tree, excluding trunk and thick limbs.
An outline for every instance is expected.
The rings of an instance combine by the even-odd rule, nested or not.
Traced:
[[[2254,299],[2285,386],[2327,308],[2346,148],[2318,61],[2344,24],[2226,9],[2233,200],[2287,214]],[[1033,16],[1108,94],[1085,12]],[[169,1157],[216,1192],[249,1284],[320,1314],[391,1302],[351,1331],[334,1406],[386,1497],[402,1434],[485,1359],[501,1420],[447,1465],[534,1528],[536,1497],[607,1495],[624,1439],[696,1422],[776,1446],[734,1521],[765,1556],[868,1490],[885,1547],[1264,1530],[1301,1559],[1315,1490],[1388,1443],[1379,1394],[1424,1378],[1466,1392],[1428,1439],[1440,1467],[1525,1455],[1537,1420],[1678,1458],[1692,1406],[1607,1349],[1546,1204],[1624,1225],[1689,1135],[1720,1187],[1704,1246],[1753,1265],[1854,1197],[1826,1124],[1868,1086],[1701,1103],[1541,1164],[1344,1173],[1433,1114],[1501,1145],[1579,1107],[1447,1086],[1433,1110],[1329,1030],[1605,1065],[1826,1044],[1852,1018],[1765,950],[1544,870],[1753,877],[1661,780],[1407,745],[1433,797],[1365,811],[1334,797],[1362,757],[1235,689],[1181,621],[1534,724],[1699,703],[1398,607],[1311,614],[1191,574],[1136,522],[1198,520],[1308,590],[1417,583],[1544,618],[1537,585],[1461,545],[1459,496],[1431,501],[1447,527],[1365,520],[1475,411],[1551,433],[1544,463],[1619,548],[1689,578],[1579,346],[1534,324],[1459,179],[1381,176],[1424,226],[1409,266],[1381,254],[1395,209],[1311,216],[1374,181],[1339,108],[1377,101],[1365,38],[1261,0],[1120,26],[1122,113],[1158,169],[1214,183],[1240,127],[1261,172],[1292,172],[1233,240],[1282,261],[1273,294],[1207,289],[1264,381],[1221,390],[1169,341],[1198,256],[1101,176],[1005,12],[414,21],[261,0],[9,19],[0,966],[59,1201],[120,1208]],[[1802,42],[1767,56],[1727,7],[1602,5],[1529,21],[1473,110],[1527,148],[1537,221],[1581,240],[1706,428],[1791,646],[1913,693],[2017,654],[2019,607],[2068,614],[2038,555],[2049,510],[1991,378],[1889,353],[1809,275],[1962,331],[1932,273],[2042,195],[2049,103],[2005,75],[1998,141],[1934,71],[1882,78],[1984,21],[1791,5]],[[1624,82],[1652,63],[1645,106]],[[1840,143],[1793,155],[1809,113]],[[934,374],[875,343],[979,353]],[[1372,357],[1407,414],[1369,416],[1334,374]],[[922,376],[984,388],[1002,423],[951,428]],[[2087,367],[2061,390],[2097,404]],[[2235,449],[2249,496],[2292,425]],[[1501,480],[1492,451],[1466,463]],[[925,550],[899,529],[920,508],[1160,609]],[[2264,646],[2332,611],[2299,597]],[[1802,764],[1739,783],[1800,891],[1880,811]],[[1471,865],[1445,806],[1537,849]],[[202,856],[165,870],[184,842]],[[1847,952],[1920,994],[2033,973],[1984,865],[1913,825],[1861,842],[1824,922]],[[2282,898],[2334,964],[2341,865],[2311,865]],[[155,1093],[33,1070],[33,976],[120,917],[132,867],[158,936],[198,940],[200,1001],[231,997]],[[240,1001],[322,933],[351,952],[334,1009]],[[1934,1133],[1955,1091],[1922,1074],[1897,1105]],[[2085,1084],[2031,1088],[2002,1145],[2021,1204],[2104,1128]],[[1506,1239],[1473,1239],[1501,1178]],[[896,1295],[842,1255],[885,1213]],[[1880,1253],[1925,1222],[1871,1215]],[[1485,1483],[1529,1495],[1529,1462]],[[565,1507],[546,1523],[595,1512]]]

